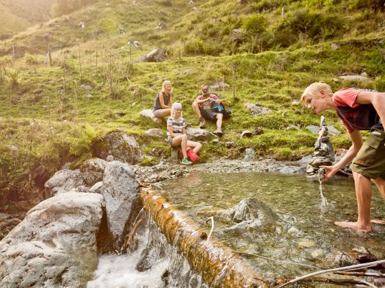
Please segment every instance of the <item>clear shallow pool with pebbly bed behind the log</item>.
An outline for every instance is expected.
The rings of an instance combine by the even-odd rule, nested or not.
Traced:
[[[208,231],[211,221],[198,214],[202,209],[228,209],[247,197],[256,197],[270,206],[282,219],[281,228],[231,234],[223,229],[233,224],[214,217],[212,233],[214,239],[233,250],[254,254],[241,255],[266,278],[293,278],[318,270],[280,261],[319,269],[340,267],[349,263],[341,260],[336,264],[331,259],[340,258],[333,255],[342,252],[355,259],[359,254],[356,251],[362,248],[379,260],[385,258],[385,226],[373,225],[373,232],[363,233],[333,224],[357,219],[352,178],[329,180],[320,187],[318,179],[305,175],[192,171],[184,178],[163,182],[159,192]],[[372,219],[385,219],[384,199],[374,185],[371,207]],[[289,228],[298,232],[287,232]]]

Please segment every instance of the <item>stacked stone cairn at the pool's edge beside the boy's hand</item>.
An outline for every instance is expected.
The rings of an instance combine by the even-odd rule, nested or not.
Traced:
[[[318,139],[314,144],[313,158],[307,165],[306,172],[309,175],[318,173],[320,166],[330,166],[334,162],[333,145],[331,145],[329,134],[326,126],[325,117],[321,116],[320,132],[318,133]]]

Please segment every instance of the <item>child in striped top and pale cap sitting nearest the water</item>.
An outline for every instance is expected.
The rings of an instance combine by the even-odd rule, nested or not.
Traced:
[[[181,160],[181,164],[184,165],[192,165],[192,162],[188,160],[186,149],[187,147],[192,148],[192,151],[198,153],[199,149],[201,149],[202,145],[199,142],[194,142],[187,140],[186,135],[186,122],[181,117],[181,104],[174,103],[171,117],[167,119],[167,143],[171,147],[181,146],[183,160]]]

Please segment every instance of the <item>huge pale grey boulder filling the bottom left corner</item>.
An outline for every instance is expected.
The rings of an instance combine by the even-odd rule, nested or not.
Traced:
[[[85,287],[98,265],[102,195],[62,193],[0,241],[0,287]]]

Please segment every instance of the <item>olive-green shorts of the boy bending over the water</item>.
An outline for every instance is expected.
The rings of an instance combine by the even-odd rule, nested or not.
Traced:
[[[375,129],[353,159],[351,169],[371,179],[385,178],[385,132]]]

